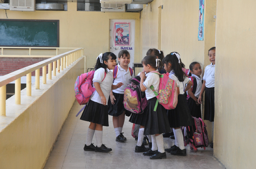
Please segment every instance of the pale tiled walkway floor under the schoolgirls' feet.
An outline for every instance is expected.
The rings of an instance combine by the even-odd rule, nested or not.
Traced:
[[[82,169],[82,168],[225,168],[212,155],[213,149],[199,149],[194,152],[186,146],[187,156],[174,156],[167,153],[166,159],[151,160],[142,153],[135,153],[137,142],[131,135],[132,124],[126,117],[123,132],[126,143],[115,142],[115,132],[112,118],[109,117],[109,127],[103,127],[103,144],[112,148],[110,153],[83,151],[89,122],[79,120],[75,115],[82,108],[77,102],[57,138],[44,169]],[[164,147],[174,145],[174,139],[164,138]],[[95,137],[93,143],[96,145]]]

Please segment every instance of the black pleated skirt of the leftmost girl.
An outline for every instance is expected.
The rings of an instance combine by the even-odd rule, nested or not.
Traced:
[[[108,105],[90,100],[84,108],[80,120],[109,126]]]

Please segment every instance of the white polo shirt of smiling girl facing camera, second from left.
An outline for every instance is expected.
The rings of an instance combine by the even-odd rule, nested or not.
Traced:
[[[114,93],[118,93],[118,94],[123,94],[124,93],[124,89],[127,87],[127,83],[134,78],[134,73],[131,76],[130,70],[129,68],[127,69],[127,71],[125,71],[125,69],[123,69],[119,64],[117,65],[117,76],[116,79],[113,83],[113,85],[116,85],[119,82],[123,83],[123,86],[121,86],[118,89],[113,90]]]

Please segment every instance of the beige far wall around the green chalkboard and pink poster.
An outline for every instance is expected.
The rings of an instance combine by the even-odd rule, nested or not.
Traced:
[[[86,66],[90,68],[96,63],[99,53],[109,51],[110,19],[135,19],[135,55],[140,55],[140,13],[77,11],[76,2],[69,2],[68,11],[7,10],[7,16],[8,19],[59,20],[59,46],[84,48]],[[0,18],[6,19],[5,10],[0,10]]]

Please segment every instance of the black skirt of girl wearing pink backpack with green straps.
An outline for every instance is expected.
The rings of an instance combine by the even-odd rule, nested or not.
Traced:
[[[172,128],[191,126],[193,124],[184,95],[178,96],[178,103],[175,109],[167,110],[167,117]]]

